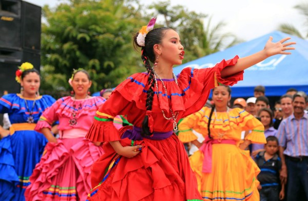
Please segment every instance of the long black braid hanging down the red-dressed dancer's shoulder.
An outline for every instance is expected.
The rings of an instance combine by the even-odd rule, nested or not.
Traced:
[[[142,47],[141,48],[141,58],[144,63],[145,68],[147,69],[148,72],[148,90],[147,90],[147,95],[146,95],[146,103],[145,107],[146,110],[151,111],[152,110],[152,103],[153,103],[153,96],[154,96],[154,87],[155,87],[155,79],[154,79],[154,71],[152,67],[150,66],[149,59],[146,56],[145,50]],[[142,131],[144,135],[151,135],[152,133],[149,130],[148,127],[148,116],[145,115],[143,122],[142,122]]]

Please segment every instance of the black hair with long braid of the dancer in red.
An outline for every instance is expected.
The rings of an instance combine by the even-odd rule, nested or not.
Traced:
[[[133,38],[134,41],[134,47],[141,47],[141,59],[143,61],[143,64],[148,72],[148,90],[147,90],[147,96],[146,96],[146,103],[145,107],[147,111],[152,110],[152,103],[153,103],[153,96],[154,96],[154,88],[155,88],[155,78],[154,78],[154,71],[150,65],[150,62],[155,62],[155,53],[153,50],[154,45],[161,44],[162,38],[165,35],[166,30],[169,30],[170,28],[167,27],[161,27],[156,28],[151,31],[149,31],[145,37],[145,46],[141,47],[137,43],[137,36],[139,32],[136,33],[136,35]],[[152,133],[149,130],[148,127],[148,115],[145,115],[143,122],[142,122],[142,131],[143,135],[151,135]]]

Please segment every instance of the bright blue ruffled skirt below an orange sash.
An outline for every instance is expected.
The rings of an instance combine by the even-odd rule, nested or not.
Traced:
[[[25,200],[29,177],[46,144],[36,131],[15,131],[0,140],[0,200]]]

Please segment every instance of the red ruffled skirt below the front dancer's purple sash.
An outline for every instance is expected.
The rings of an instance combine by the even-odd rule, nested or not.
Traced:
[[[93,189],[87,200],[202,200],[187,153],[178,137],[120,140],[122,146],[142,145],[133,158],[114,153],[109,143],[92,167]]]

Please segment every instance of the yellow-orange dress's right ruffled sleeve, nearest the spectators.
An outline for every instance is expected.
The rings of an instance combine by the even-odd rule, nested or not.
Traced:
[[[243,122],[241,123],[243,130],[252,131],[245,136],[244,139],[251,140],[251,142],[255,144],[266,144],[263,124],[256,117],[246,111],[243,111],[241,115],[245,116],[242,119]]]

